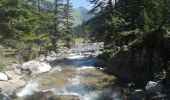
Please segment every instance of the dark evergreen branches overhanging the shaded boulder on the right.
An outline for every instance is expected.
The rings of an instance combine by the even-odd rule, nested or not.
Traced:
[[[167,0],[90,0],[96,16],[87,25],[92,39],[105,44],[132,44],[141,34],[168,26]],[[104,2],[104,3],[103,3]],[[102,9],[102,10],[100,10]]]

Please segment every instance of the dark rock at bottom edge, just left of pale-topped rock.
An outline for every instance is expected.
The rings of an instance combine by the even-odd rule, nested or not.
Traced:
[[[145,100],[147,97],[147,93],[142,89],[135,90],[132,92],[132,99],[133,100]]]

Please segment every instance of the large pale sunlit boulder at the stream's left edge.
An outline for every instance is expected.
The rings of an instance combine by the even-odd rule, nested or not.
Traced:
[[[41,74],[51,70],[51,66],[45,62],[29,61],[22,65],[23,70],[27,70],[30,74]]]

